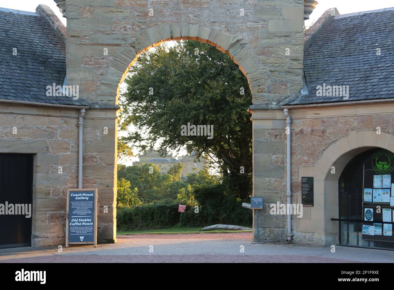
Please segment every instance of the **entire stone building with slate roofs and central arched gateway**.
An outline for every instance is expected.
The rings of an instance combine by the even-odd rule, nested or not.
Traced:
[[[394,164],[393,9],[330,9],[304,35],[314,0],[55,2],[67,30],[45,6],[0,11],[0,204],[33,204],[13,234],[0,215],[0,245],[64,244],[76,187],[98,189],[99,242],[116,241],[119,84],[141,52],[192,39],[230,54],[249,82],[253,195],[264,198],[255,240],[390,247],[388,217],[373,213],[375,230],[363,218],[393,209],[379,203]],[[276,202],[302,204],[302,217],[271,214]]]

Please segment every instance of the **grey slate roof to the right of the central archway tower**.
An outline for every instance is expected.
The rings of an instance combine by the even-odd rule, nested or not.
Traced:
[[[309,94],[281,105],[344,101],[316,96],[316,86],[323,83],[348,85],[346,101],[394,98],[394,9],[355,14],[335,17],[310,44],[303,61]]]

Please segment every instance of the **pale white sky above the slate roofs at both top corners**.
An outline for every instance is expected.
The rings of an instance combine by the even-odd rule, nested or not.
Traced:
[[[316,21],[323,12],[329,8],[336,7],[340,14],[354,13],[359,11],[375,10],[387,7],[393,7],[393,0],[318,0],[319,4],[310,15],[310,20],[305,21],[309,26],[312,21]],[[1,0],[0,7],[17,9],[23,11],[35,11],[39,4],[49,6],[58,15],[59,19],[66,25],[66,19],[61,17],[61,13],[53,0]]]

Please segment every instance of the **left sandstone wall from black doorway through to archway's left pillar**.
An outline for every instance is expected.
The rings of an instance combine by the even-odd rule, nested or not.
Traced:
[[[114,241],[116,156],[107,149],[115,152],[117,116],[104,113],[104,121],[94,110],[86,113],[83,187],[99,189],[99,241]],[[78,188],[78,116],[78,109],[0,105],[0,152],[34,156],[33,247],[65,244],[67,189]]]

